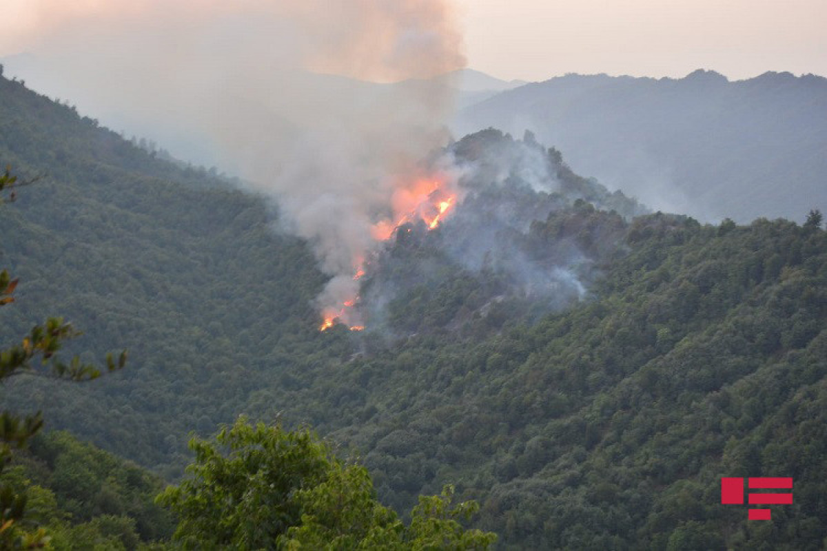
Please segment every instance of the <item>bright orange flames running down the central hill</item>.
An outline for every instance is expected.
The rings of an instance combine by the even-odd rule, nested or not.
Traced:
[[[423,178],[398,188],[391,197],[393,218],[385,218],[371,226],[371,237],[376,241],[390,240],[399,226],[415,221],[423,221],[428,230],[435,230],[457,205],[457,192],[452,187],[447,178]],[[353,280],[359,281],[366,273],[365,259],[359,259],[356,266]],[[338,309],[325,309],[319,330],[328,330],[337,323],[347,325],[351,331],[364,330],[365,326],[355,321],[359,319],[355,311],[358,301],[359,297],[356,297],[342,302]]]

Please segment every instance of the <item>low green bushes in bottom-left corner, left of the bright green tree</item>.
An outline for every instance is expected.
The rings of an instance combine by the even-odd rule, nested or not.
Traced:
[[[26,524],[48,534],[50,549],[155,549],[173,532],[155,505],[159,477],[65,432],[32,439],[2,481],[25,492]]]

